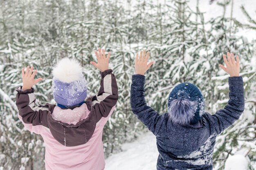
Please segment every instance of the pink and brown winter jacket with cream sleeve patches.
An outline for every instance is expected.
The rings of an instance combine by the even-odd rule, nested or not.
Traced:
[[[45,142],[46,170],[104,169],[102,132],[117,103],[118,88],[111,69],[100,73],[98,95],[71,108],[49,103],[35,106],[33,88],[25,91],[16,88],[19,119]],[[63,115],[67,117],[62,118]]]

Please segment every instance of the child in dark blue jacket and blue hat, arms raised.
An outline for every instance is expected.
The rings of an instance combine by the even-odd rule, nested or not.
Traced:
[[[144,98],[144,73],[153,64],[147,64],[149,52],[141,51],[135,59],[132,75],[132,112],[157,138],[157,170],[212,170],[213,148],[216,137],[231,126],[243,113],[245,106],[243,78],[239,76],[239,58],[223,55],[229,73],[229,101],[214,115],[204,112],[200,90],[184,82],[173,88],[168,97],[168,113],[159,115]]]

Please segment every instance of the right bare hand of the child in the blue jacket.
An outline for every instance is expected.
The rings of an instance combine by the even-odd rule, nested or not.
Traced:
[[[227,52],[227,58],[226,55],[223,54],[223,59],[227,67],[222,66],[219,64],[220,68],[224,70],[225,72],[229,73],[230,77],[238,77],[240,72],[240,64],[239,64],[239,57],[236,55],[236,61],[234,58],[233,53]]]

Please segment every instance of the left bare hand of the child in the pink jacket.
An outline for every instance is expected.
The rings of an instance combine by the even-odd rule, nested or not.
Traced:
[[[21,70],[22,82],[23,82],[22,90],[30,89],[33,85],[37,84],[43,79],[43,78],[34,79],[36,75],[36,70],[33,72],[33,68],[34,67],[31,66],[29,70],[29,66],[27,66],[26,73],[24,73],[24,67],[22,68]]]

